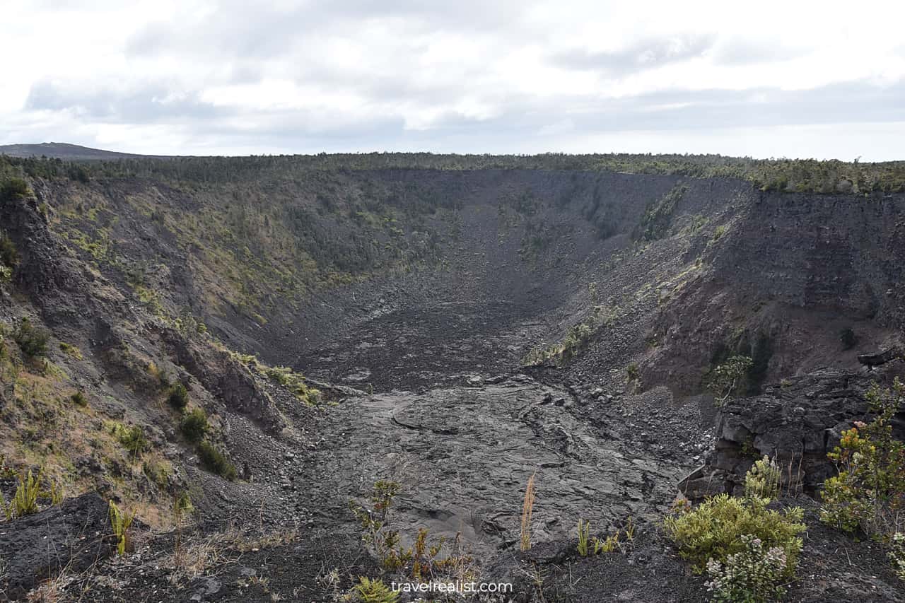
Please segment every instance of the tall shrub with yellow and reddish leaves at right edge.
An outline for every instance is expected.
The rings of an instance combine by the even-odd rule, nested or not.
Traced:
[[[865,397],[874,419],[844,431],[827,455],[839,474],[824,482],[820,519],[843,531],[891,535],[905,510],[905,444],[892,437],[905,386],[898,378],[891,389],[875,384]]]

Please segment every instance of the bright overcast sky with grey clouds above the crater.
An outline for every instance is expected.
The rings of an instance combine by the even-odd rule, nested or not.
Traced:
[[[905,3],[3,0],[0,144],[905,159]]]

